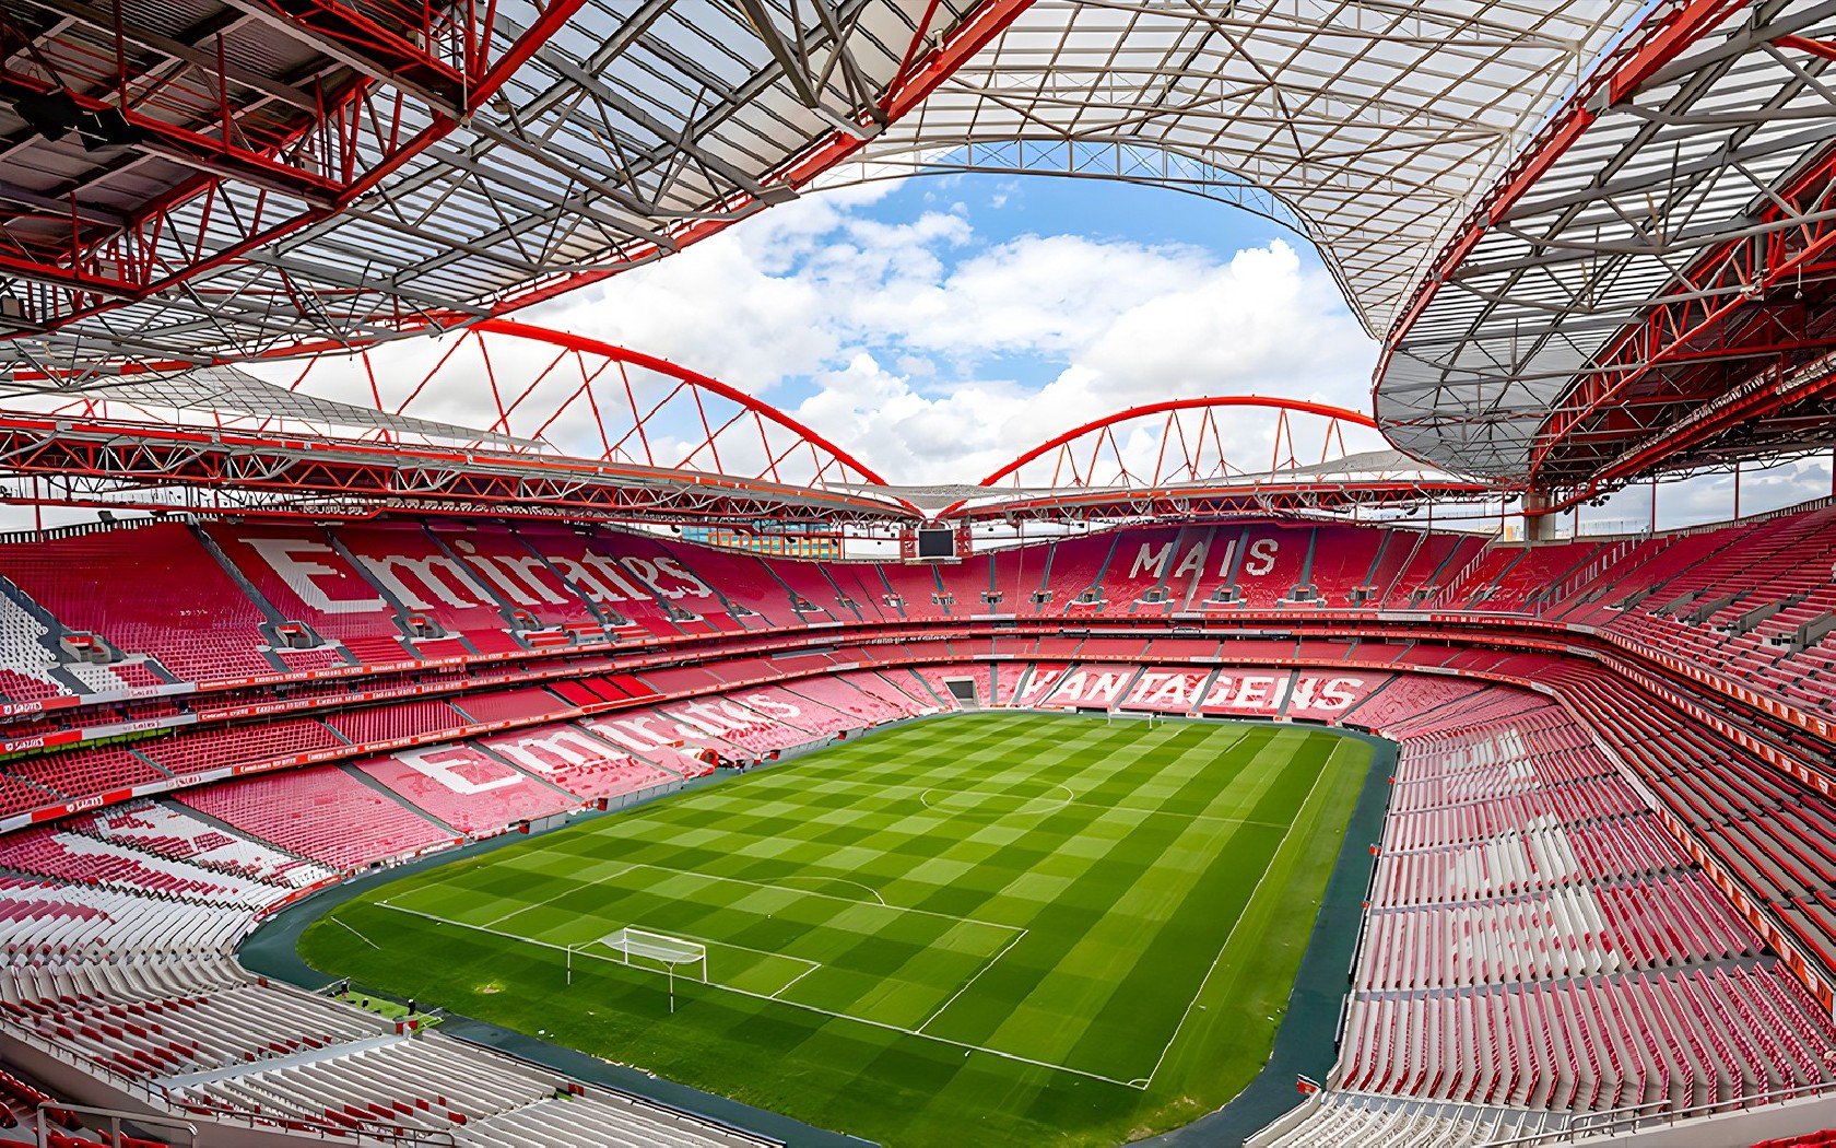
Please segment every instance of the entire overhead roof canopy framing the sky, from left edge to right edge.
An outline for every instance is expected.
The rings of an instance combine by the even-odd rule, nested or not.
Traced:
[[[1829,435],[1827,7],[17,0],[0,371],[365,347],[824,173],[1056,171],[1305,231],[1421,476],[1586,494]]]

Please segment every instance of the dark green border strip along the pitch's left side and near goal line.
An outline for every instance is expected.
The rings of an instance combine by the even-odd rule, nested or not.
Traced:
[[[786,755],[789,759],[791,755]],[[718,773],[714,777],[690,782],[683,790],[655,797],[654,801],[663,801],[665,797],[676,797],[688,792],[690,788],[701,788],[707,784],[718,784],[725,781],[727,773]],[[586,819],[597,817],[615,817],[622,812],[641,808],[648,803],[628,805],[619,810],[608,810],[604,814],[586,812],[567,817],[564,825],[556,825],[549,830],[565,828],[567,825],[580,825]],[[261,922],[242,944],[237,948],[237,961],[242,968],[263,977],[274,977],[275,981],[286,981],[308,992],[319,992],[334,981],[343,977],[330,977],[312,968],[299,957],[299,937],[316,920],[327,913],[338,909],[345,902],[369,893],[378,885],[387,885],[411,876],[424,869],[437,869],[450,861],[459,861],[470,856],[490,852],[501,849],[512,841],[527,841],[531,836],[538,834],[499,834],[496,838],[487,838],[483,841],[472,841],[470,845],[461,845],[457,849],[446,849],[402,865],[391,865],[386,869],[376,869],[365,872],[364,876],[353,878],[340,885],[332,885],[312,896],[307,896],[285,909],[277,911],[264,922]],[[367,986],[365,986],[367,988]],[[367,988],[369,996],[391,999],[395,1003],[406,1005],[404,997],[391,996],[375,988]],[[536,1036],[525,1036],[514,1029],[505,1029],[501,1025],[492,1025],[488,1021],[474,1019],[450,1010],[441,1010],[444,1019],[439,1025],[439,1032],[452,1036],[474,1045],[483,1045],[487,1049],[514,1056],[518,1060],[536,1064],[558,1073],[565,1073],[575,1080],[584,1080],[586,1084],[597,1084],[600,1087],[632,1093],[654,1104],[665,1108],[674,1108],[694,1117],[727,1124],[742,1131],[751,1131],[771,1141],[782,1141],[784,1144],[808,1144],[810,1148],[861,1148],[872,1141],[863,1141],[859,1137],[843,1135],[837,1131],[828,1131],[826,1128],[815,1128],[804,1124],[784,1113],[769,1111],[764,1108],[753,1108],[751,1104],[742,1104],[738,1100],[722,1097],[718,1093],[705,1093],[698,1087],[687,1084],[677,1084],[663,1076],[652,1076],[641,1069],[633,1069],[622,1064],[611,1064],[600,1060],[589,1052],[578,1049],[569,1049],[565,1045],[556,1045]]]

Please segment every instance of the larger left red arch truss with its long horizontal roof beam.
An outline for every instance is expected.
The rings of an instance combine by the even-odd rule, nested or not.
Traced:
[[[767,402],[527,323],[485,320],[442,343],[314,356],[292,389],[279,388],[292,404],[257,391],[263,402],[237,411],[224,400],[200,417],[189,388],[211,371],[224,367],[167,388],[40,397],[50,417],[0,413],[0,498],[211,514],[920,516],[872,468]],[[408,413],[450,411],[457,395],[476,397],[463,413],[488,426]]]

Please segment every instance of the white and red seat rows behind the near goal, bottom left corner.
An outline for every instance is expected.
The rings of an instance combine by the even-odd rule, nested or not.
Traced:
[[[545,1135],[624,1148],[766,1142],[252,979],[228,957],[248,907],[0,878],[0,911],[11,924],[6,1023],[178,1111],[387,1142],[417,1128],[465,1130],[463,1144],[553,1142]],[[13,1076],[6,1084],[9,1095],[29,1093]]]

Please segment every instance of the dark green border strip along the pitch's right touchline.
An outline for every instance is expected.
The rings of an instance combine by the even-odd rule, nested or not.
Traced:
[[[1326,1080],[1338,1058],[1338,1018],[1351,992],[1351,961],[1364,926],[1364,896],[1370,893],[1383,838],[1383,819],[1390,810],[1390,779],[1395,773],[1397,744],[1338,727],[1338,733],[1371,746],[1370,771],[1346,825],[1333,874],[1320,896],[1320,913],[1300,959],[1287,1012],[1276,1030],[1274,1049],[1261,1073],[1217,1111],[1144,1141],[1151,1148],[1241,1148],[1241,1144],[1305,1097],[1300,1076]]]

